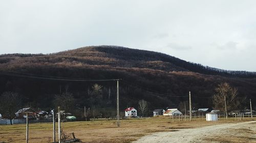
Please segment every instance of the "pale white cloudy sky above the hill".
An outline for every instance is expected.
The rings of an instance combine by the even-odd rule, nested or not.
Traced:
[[[1,1],[0,54],[119,45],[256,71],[256,1]]]

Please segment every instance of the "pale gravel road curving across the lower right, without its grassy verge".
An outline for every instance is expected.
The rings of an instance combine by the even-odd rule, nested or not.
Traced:
[[[200,128],[190,128],[190,129],[178,129],[177,131],[170,132],[158,132],[151,135],[144,136],[139,140],[134,141],[134,143],[156,143],[156,142],[209,142],[205,140],[208,137],[218,137],[218,136],[232,136],[232,135],[242,135],[236,132],[239,129],[255,129],[256,121],[241,122],[241,123],[229,123],[213,126],[205,126]],[[254,126],[254,127],[253,127]],[[244,136],[252,137],[253,134],[243,134]],[[254,134],[254,139],[256,136]],[[256,142],[256,140],[251,140]],[[219,142],[219,141],[210,141]],[[250,141],[249,141],[250,142]]]

